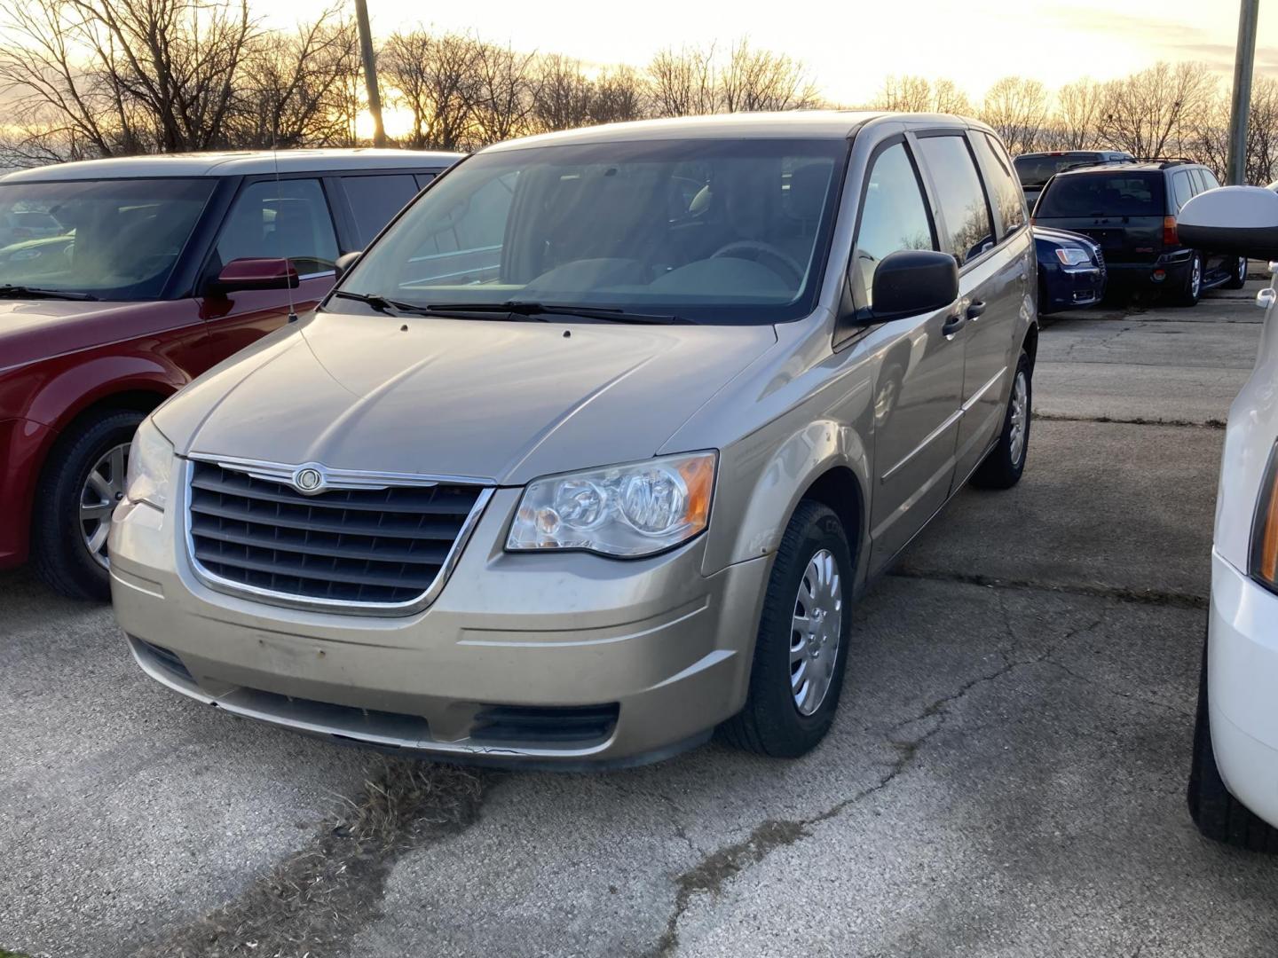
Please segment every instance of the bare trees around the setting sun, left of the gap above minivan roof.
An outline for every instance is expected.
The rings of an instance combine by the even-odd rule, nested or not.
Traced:
[[[806,68],[748,40],[670,49],[644,69],[409,29],[377,51],[399,144],[475,149],[648,116],[817,106]],[[340,8],[293,32],[248,0],[0,0],[0,165],[220,148],[349,147],[366,109]]]

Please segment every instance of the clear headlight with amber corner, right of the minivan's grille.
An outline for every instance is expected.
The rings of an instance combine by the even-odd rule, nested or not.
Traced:
[[[524,490],[507,549],[651,556],[697,535],[711,515],[717,453],[537,479]]]

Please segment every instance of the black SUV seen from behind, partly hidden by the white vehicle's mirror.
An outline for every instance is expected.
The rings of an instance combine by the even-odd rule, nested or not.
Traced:
[[[1105,254],[1111,284],[1157,289],[1191,307],[1213,286],[1241,289],[1247,261],[1181,243],[1176,217],[1191,197],[1219,186],[1192,160],[1137,160],[1058,172],[1034,207],[1035,225],[1081,232]]]

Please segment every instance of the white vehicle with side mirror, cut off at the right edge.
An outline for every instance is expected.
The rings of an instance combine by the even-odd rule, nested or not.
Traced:
[[[1185,204],[1195,249],[1278,261],[1278,193],[1226,186]],[[1270,266],[1278,263],[1270,262]],[[1208,620],[1189,805],[1208,838],[1278,852],[1278,310],[1229,410],[1215,506]]]

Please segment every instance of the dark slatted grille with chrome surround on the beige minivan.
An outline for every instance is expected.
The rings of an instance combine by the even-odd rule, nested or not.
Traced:
[[[193,460],[188,547],[213,588],[328,611],[427,604],[465,544],[489,490],[404,476],[304,496],[253,464]],[[358,475],[358,474],[353,474]]]

